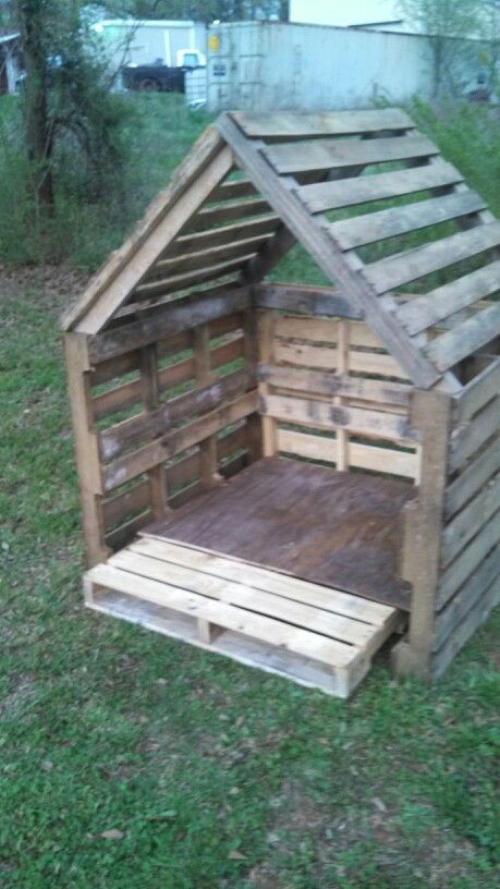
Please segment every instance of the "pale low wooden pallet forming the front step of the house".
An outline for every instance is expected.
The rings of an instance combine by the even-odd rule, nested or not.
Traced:
[[[387,605],[147,536],[88,571],[84,586],[96,611],[337,697],[402,620]]]

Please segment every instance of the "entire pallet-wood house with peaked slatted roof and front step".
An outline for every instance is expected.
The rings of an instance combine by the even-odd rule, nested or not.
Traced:
[[[328,285],[269,282],[296,243]],[[63,320],[87,605],[330,694],[394,633],[439,677],[500,594],[499,289],[403,111],[223,114]]]

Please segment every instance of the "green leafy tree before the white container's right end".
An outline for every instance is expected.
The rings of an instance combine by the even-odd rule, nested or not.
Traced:
[[[452,71],[461,45],[477,34],[481,21],[480,0],[400,0],[403,14],[425,34],[432,53],[434,95],[444,83],[453,86]],[[463,48],[464,45],[462,45]]]

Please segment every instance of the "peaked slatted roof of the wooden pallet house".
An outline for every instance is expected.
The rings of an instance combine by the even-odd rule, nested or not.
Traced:
[[[434,226],[437,240],[401,251],[398,238]],[[190,291],[257,283],[296,242],[416,386],[500,334],[500,221],[391,108],[222,114],[63,329],[95,334]],[[380,258],[366,261],[375,244]],[[398,295],[420,280],[417,295]]]

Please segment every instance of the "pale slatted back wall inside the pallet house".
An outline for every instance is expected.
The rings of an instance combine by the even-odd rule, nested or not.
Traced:
[[[366,324],[259,312],[264,452],[418,480],[411,386]]]

